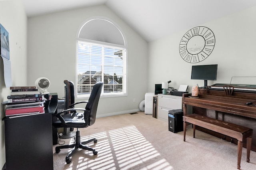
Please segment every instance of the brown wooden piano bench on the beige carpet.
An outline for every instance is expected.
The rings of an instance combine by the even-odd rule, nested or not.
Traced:
[[[247,140],[247,162],[250,162],[250,150],[252,145],[252,129],[248,127],[243,127],[233,123],[228,123],[220,121],[218,119],[212,119],[210,117],[205,117],[198,114],[191,114],[183,116],[183,126],[184,126],[184,141],[186,137],[186,123],[193,124],[193,137],[195,138],[196,126],[207,128],[215,132],[236,138],[238,140],[237,144],[237,168],[240,169],[243,142]]]

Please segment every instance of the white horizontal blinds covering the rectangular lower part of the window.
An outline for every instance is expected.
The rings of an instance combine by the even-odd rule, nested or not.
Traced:
[[[77,96],[89,96],[98,81],[102,95],[126,94],[126,49],[78,41]]]

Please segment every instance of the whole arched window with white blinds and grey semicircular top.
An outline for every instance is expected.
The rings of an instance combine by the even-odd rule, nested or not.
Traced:
[[[98,81],[102,95],[126,95],[126,42],[117,25],[91,18],[77,34],[77,97],[88,97]]]

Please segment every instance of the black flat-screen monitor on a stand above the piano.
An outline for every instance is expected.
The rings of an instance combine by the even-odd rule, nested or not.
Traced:
[[[207,80],[217,79],[218,64],[192,65],[191,79],[204,80],[204,87],[207,87]]]

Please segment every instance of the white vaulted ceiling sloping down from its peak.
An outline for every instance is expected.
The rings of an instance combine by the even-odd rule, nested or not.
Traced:
[[[256,6],[256,0],[22,1],[28,17],[104,4],[148,42]]]

